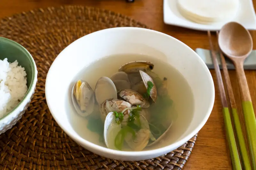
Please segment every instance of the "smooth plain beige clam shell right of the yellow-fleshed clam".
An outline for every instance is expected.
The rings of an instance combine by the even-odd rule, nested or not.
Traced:
[[[108,77],[101,77],[95,86],[95,97],[100,105],[107,99],[117,98],[116,86]]]

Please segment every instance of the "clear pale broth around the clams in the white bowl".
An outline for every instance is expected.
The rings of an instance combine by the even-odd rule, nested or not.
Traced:
[[[157,60],[157,58],[135,54],[111,55],[84,67],[82,71],[74,77],[74,82],[79,79],[85,80],[94,90],[96,82],[100,77],[111,77],[114,73],[118,72],[120,66],[136,60],[144,60],[154,63],[153,72],[158,74],[161,80],[163,80],[164,77],[167,78],[168,95],[173,101],[169,110],[170,114],[166,113],[166,120],[170,120],[169,122],[167,121],[167,126],[171,123],[172,126],[175,126],[175,122],[183,121],[187,126],[180,126],[179,128],[184,128],[183,131],[186,131],[189,126],[189,120],[193,117],[194,97],[192,90],[186,79],[178,70],[161,60]],[[76,111],[73,109],[73,112]],[[82,138],[94,144],[106,147],[103,141],[104,123],[101,121],[99,114],[99,112],[94,112],[89,117],[70,116],[70,123]],[[179,138],[179,135],[174,133],[173,138]],[[148,150],[148,148],[146,147],[144,150]]]

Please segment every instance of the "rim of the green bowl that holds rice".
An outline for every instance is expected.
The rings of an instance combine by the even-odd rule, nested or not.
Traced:
[[[8,38],[5,38],[5,37],[0,37],[0,40],[3,39],[4,41],[7,41],[8,43],[16,46],[16,48],[20,48],[21,51],[23,51],[27,56],[28,56],[28,59],[30,60],[31,64],[32,64],[32,79],[31,79],[31,84],[30,86],[28,87],[28,90],[27,92],[25,93],[25,96],[22,98],[22,100],[7,114],[5,115],[4,117],[0,118],[0,121],[7,121],[8,117],[11,116],[13,113],[18,113],[20,112],[20,110],[18,110],[18,108],[20,106],[23,105],[23,103],[27,102],[27,99],[30,98],[33,93],[34,93],[34,90],[35,90],[35,87],[36,87],[36,82],[37,82],[37,68],[36,68],[36,63],[35,63],[35,60],[33,59],[32,55],[28,52],[28,50],[21,46],[19,43],[11,40],[11,39],[8,39]],[[6,57],[8,59],[8,57]]]

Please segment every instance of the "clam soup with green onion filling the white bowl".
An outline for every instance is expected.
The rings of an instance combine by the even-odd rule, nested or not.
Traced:
[[[179,138],[177,129],[186,130],[193,117],[185,78],[150,56],[105,57],[85,67],[74,82],[70,122],[97,145],[122,151],[162,147],[162,140]]]

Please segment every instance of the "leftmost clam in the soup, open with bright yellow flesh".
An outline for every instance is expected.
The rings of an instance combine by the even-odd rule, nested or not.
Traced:
[[[94,108],[94,92],[91,86],[84,80],[78,80],[72,89],[72,102],[77,113],[81,116],[88,116]]]

